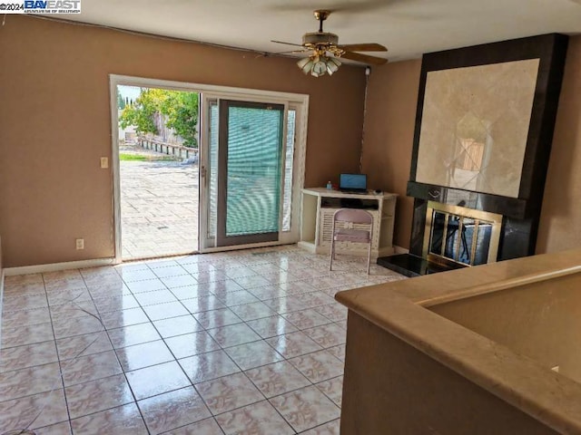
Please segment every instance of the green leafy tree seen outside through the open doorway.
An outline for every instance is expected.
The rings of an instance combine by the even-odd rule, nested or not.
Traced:
[[[158,131],[153,121],[155,113],[167,116],[166,126],[182,137],[186,147],[198,147],[198,94],[196,92],[142,88],[137,100],[127,104],[123,109],[119,124],[123,129],[133,125],[138,133],[156,134]]]

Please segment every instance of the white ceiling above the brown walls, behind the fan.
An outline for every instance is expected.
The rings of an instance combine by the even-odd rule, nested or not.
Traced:
[[[381,43],[389,52],[379,55],[390,62],[534,34],[581,34],[581,0],[82,0],[82,14],[66,18],[278,53],[292,47],[271,40],[300,43],[318,29],[314,9],[333,11],[325,31],[340,43]]]

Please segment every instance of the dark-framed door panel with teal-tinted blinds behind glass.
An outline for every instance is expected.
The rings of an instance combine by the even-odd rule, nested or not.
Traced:
[[[216,246],[279,239],[284,106],[222,100]]]

